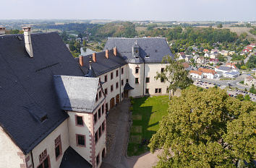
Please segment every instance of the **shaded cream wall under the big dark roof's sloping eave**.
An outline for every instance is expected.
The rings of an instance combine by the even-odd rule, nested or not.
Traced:
[[[55,156],[55,139],[61,135],[61,149],[62,155],[56,160]],[[54,131],[52,131],[46,138],[43,139],[35,148],[33,149],[33,162],[35,167],[39,166],[39,155],[47,149],[47,154],[51,162],[51,167],[59,167],[61,164],[61,159],[64,152],[69,147],[69,133],[67,128],[67,120],[64,120],[61,125],[59,125]]]

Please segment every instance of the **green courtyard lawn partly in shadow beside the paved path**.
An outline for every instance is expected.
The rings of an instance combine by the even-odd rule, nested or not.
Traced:
[[[146,143],[159,128],[159,121],[167,115],[168,96],[142,97],[133,100],[132,128],[129,134],[128,156],[137,156],[149,151]]]

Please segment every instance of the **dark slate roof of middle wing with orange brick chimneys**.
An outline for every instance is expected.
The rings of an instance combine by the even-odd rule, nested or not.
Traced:
[[[95,73],[95,76],[100,76],[101,74],[105,74],[108,71],[112,71],[115,68],[124,66],[127,64],[126,61],[124,61],[124,58],[121,56],[114,56],[113,50],[108,50],[108,58],[106,58],[106,52],[99,52],[96,54],[96,62],[92,62],[91,66],[93,68],[93,71]],[[85,72],[85,74],[88,74],[88,69],[90,68],[90,61],[93,59],[93,55],[88,56],[82,56],[82,59],[84,61],[84,66],[82,66],[82,71]],[[75,58],[77,63],[79,62],[79,58]]]

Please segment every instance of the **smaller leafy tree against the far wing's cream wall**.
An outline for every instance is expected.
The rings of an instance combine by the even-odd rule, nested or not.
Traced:
[[[192,84],[189,72],[184,69],[180,61],[175,61],[171,56],[163,57],[162,63],[167,63],[163,71],[157,72],[155,79],[161,79],[169,83],[168,91],[175,92],[176,89],[185,89]]]

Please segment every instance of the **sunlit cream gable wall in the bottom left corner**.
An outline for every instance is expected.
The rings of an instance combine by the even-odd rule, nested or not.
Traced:
[[[17,168],[20,167],[20,164],[24,164],[23,159],[18,156],[18,152],[22,153],[20,148],[0,127],[0,167]]]

